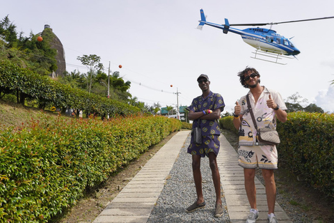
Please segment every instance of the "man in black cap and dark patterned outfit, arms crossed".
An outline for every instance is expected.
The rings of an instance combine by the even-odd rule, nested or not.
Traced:
[[[223,215],[223,207],[221,204],[221,176],[219,175],[216,157],[220,148],[219,135],[221,134],[218,119],[221,118],[221,112],[223,112],[225,104],[220,94],[210,91],[210,82],[207,75],[200,75],[197,82],[202,90],[202,95],[194,98],[193,102],[191,102],[191,106],[186,109],[189,111],[189,120],[193,120],[193,130],[196,127],[200,127],[202,143],[196,144],[193,134],[191,134],[188,153],[192,155],[193,180],[195,182],[197,200],[186,208],[186,211],[192,212],[205,207],[202,193],[200,158],[207,156],[209,157],[209,166],[212,171],[212,179],[216,191],[216,210],[214,216],[221,217],[221,215]]]

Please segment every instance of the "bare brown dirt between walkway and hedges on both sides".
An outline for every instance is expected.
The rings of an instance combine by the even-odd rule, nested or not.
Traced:
[[[138,171],[145,165],[150,158],[166,144],[166,142],[176,134],[170,134],[166,139],[156,146],[152,146],[148,152],[143,153],[141,157],[134,160],[129,166],[121,169],[118,174],[111,176],[103,185],[95,188],[92,192],[86,194],[86,197],[78,201],[77,205],[72,207],[60,216],[54,223],[67,222],[93,222],[105,206],[122,190]],[[237,136],[227,130],[223,134],[230,141],[230,144],[237,148]],[[260,177],[260,173],[257,176]],[[296,176],[285,169],[279,169],[275,172],[277,201],[280,203],[287,215],[290,217],[299,214],[302,222],[333,222],[334,220],[334,199],[330,199],[321,192],[314,190],[305,182],[299,181]],[[293,219],[292,219],[293,220]]]

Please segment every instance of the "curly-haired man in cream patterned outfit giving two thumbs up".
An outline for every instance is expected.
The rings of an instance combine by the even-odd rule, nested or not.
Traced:
[[[257,128],[276,129],[276,117],[281,122],[287,121],[285,103],[277,91],[260,86],[260,74],[255,68],[246,68],[238,73],[240,83],[248,92],[250,106],[254,113]],[[257,130],[248,110],[246,95],[236,102],[234,107],[234,127],[239,130],[239,165],[244,167],[245,189],[250,203],[250,213],[246,223],[254,223],[258,218],[256,208],[255,169],[262,171],[267,194],[268,222],[276,223],[274,214],[276,201],[276,184],[273,170],[277,169],[278,153],[276,146],[261,144]]]

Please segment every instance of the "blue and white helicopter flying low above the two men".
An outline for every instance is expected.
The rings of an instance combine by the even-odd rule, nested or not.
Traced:
[[[228,32],[239,34],[244,40],[245,43],[248,45],[255,47],[255,54],[253,59],[259,59],[262,61],[269,61],[273,63],[279,63],[279,59],[288,58],[292,59],[296,58],[296,55],[300,54],[301,51],[295,47],[292,43],[291,38],[285,38],[281,36],[276,31],[272,29],[264,29],[260,28],[259,26],[265,25],[273,25],[273,24],[283,24],[289,22],[304,22],[310,20],[325,20],[331,19],[334,17],[322,17],[316,19],[309,19],[309,20],[294,20],[294,21],[287,21],[287,22],[270,22],[270,23],[255,23],[255,24],[230,24],[228,19],[225,18],[225,24],[214,24],[212,22],[207,22],[204,10],[200,9],[200,24],[198,24],[197,29],[202,30],[204,25],[213,26],[218,29],[223,29],[223,33],[227,34]],[[230,26],[257,26],[256,28],[247,28],[247,29],[235,29]],[[273,60],[269,59],[261,59],[259,56],[267,56],[273,58]],[[279,64],[286,64],[286,63],[279,63]]]

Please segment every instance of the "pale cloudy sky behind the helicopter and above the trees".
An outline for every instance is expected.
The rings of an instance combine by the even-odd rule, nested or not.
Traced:
[[[334,19],[274,25],[271,29],[294,37],[301,50],[298,60],[281,66],[251,59],[254,48],[234,33],[225,35],[211,26],[196,29],[200,8],[208,22],[217,24],[225,18],[233,24],[334,16],[332,0],[11,0],[1,3],[0,17],[9,15],[24,36],[49,24],[63,43],[67,71],[86,72],[77,56],[97,54],[106,72],[110,61],[111,71],[132,82],[130,93],[148,105],[176,106],[177,91],[179,105],[190,105],[201,93],[196,79],[205,73],[211,90],[223,95],[225,111],[231,112],[248,91],[239,84],[237,72],[250,66],[260,72],[261,84],[284,99],[299,92],[309,103],[334,112]]]

